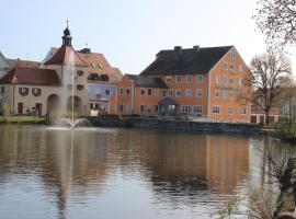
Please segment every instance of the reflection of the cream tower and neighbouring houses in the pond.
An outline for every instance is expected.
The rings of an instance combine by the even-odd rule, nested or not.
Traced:
[[[89,132],[76,132],[71,138],[71,134],[1,127],[0,165],[9,168],[0,171],[0,184],[5,175],[11,178],[16,172],[33,171],[44,183],[46,196],[56,198],[59,218],[66,217],[69,196],[82,198],[100,193],[106,176],[106,138]]]

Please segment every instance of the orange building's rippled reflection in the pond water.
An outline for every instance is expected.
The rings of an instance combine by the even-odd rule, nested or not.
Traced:
[[[249,171],[249,140],[243,136],[133,131],[133,138],[123,135],[122,145],[139,154],[159,191],[232,193]]]

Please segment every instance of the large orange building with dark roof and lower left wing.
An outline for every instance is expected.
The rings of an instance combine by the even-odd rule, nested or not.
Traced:
[[[159,84],[162,80],[162,85],[124,77],[117,87],[117,114],[250,123],[250,71],[234,46],[161,50],[139,77]]]

